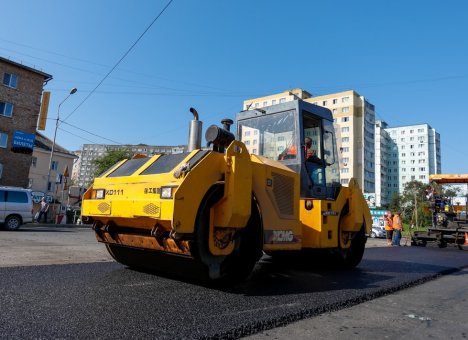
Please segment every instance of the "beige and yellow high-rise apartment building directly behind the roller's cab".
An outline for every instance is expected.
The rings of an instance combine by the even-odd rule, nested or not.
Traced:
[[[333,113],[340,156],[340,181],[354,177],[365,193],[375,192],[375,107],[355,91],[313,96],[303,89],[244,100],[243,108],[261,108],[302,99]]]

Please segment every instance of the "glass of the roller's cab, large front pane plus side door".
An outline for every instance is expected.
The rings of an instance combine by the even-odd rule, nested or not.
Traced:
[[[238,138],[250,154],[279,160],[300,174],[301,197],[336,198],[339,171],[333,122],[296,109],[241,119]]]

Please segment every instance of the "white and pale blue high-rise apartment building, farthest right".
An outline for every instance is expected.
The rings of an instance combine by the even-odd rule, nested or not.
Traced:
[[[388,150],[387,195],[403,192],[406,183],[429,183],[429,176],[442,172],[440,134],[428,124],[386,128],[393,144]]]

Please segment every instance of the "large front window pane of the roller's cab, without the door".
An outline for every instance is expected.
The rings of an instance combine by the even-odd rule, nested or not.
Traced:
[[[295,159],[295,110],[262,115],[238,122],[238,135],[249,153],[272,160]]]

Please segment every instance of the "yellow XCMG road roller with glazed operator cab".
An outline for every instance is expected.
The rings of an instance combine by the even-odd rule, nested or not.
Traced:
[[[116,261],[157,270],[176,256],[216,281],[246,278],[264,253],[359,264],[371,215],[357,182],[340,184],[330,110],[301,100],[245,110],[237,138],[224,119],[206,147],[190,111],[187,152],[122,160],[83,196],[82,220]]]

